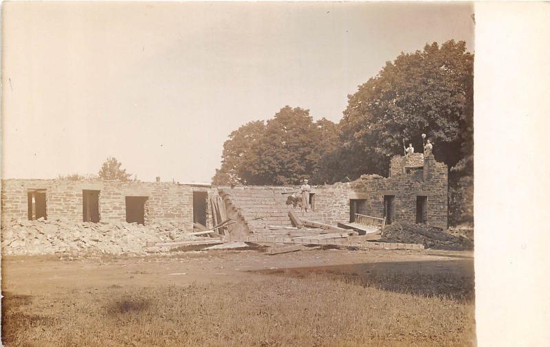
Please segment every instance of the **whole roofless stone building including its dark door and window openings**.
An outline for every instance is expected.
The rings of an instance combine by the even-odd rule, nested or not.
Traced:
[[[357,214],[393,221],[448,225],[448,168],[418,153],[391,159],[389,177],[363,175],[348,183],[311,190],[308,219],[336,225],[353,222]],[[168,182],[2,181],[3,221],[66,219],[91,223],[176,221],[212,227],[221,219],[235,223],[229,232],[261,234],[269,225],[290,226],[287,196],[296,187],[221,187]],[[220,216],[219,209],[223,210]]]

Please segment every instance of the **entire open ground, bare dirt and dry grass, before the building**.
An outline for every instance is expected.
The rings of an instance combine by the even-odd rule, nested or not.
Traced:
[[[10,256],[2,260],[2,335],[6,346],[464,346],[474,340],[473,272],[473,254],[469,251],[311,249],[272,256],[256,250],[188,251],[144,257]],[[327,292],[342,292],[342,298],[330,306],[330,300],[307,295],[323,286]],[[282,290],[287,299],[272,297],[272,290]],[[244,292],[250,295],[250,302],[242,306]],[[351,292],[356,295],[343,295]],[[192,304],[188,295],[195,298]],[[358,295],[361,300],[377,298],[364,302],[363,307],[387,302],[388,311],[377,313],[380,317],[373,317],[372,310],[357,311]],[[178,299],[171,300],[172,296]],[[272,301],[265,302],[268,299]],[[203,302],[202,306],[189,313],[197,300]],[[250,331],[241,331],[241,325],[228,333],[209,323],[207,330],[212,331],[205,336],[197,335],[196,329],[181,331],[182,324],[189,322],[179,322],[182,315],[192,317],[192,322],[206,319],[201,310],[218,300],[227,312],[219,309],[215,314],[208,313],[212,315],[208,322],[225,322],[239,310],[245,322],[263,302],[266,316],[261,319],[269,328],[262,328],[254,336]],[[288,300],[298,303],[289,308],[299,310],[296,316],[305,314],[312,305],[321,305],[318,310],[322,312],[350,305],[348,313],[353,311],[357,319],[371,320],[374,326],[371,331],[340,335],[349,326],[344,324],[349,317],[342,312],[342,319],[332,325],[312,319],[311,326],[292,331],[298,323],[285,321],[283,312],[278,316],[277,306],[288,304]],[[173,311],[158,311],[175,302],[179,304]],[[415,309],[410,309],[410,304]],[[410,312],[401,313],[407,310]],[[418,324],[405,319],[415,310],[417,315],[426,314]],[[437,324],[444,328],[428,324],[439,315]],[[129,321],[120,326],[101,326],[104,319],[113,317],[116,322]],[[149,324],[155,321],[158,326],[144,328],[145,323],[138,317],[149,317]],[[309,318],[306,315],[300,322]],[[282,320],[280,324],[271,324],[278,319]],[[67,333],[71,325],[67,322],[75,325],[74,333]],[[249,325],[261,322],[252,320]],[[327,329],[339,324],[344,325],[325,335]],[[319,333],[318,328],[325,333]],[[128,331],[121,333],[125,329]],[[409,333],[399,333],[406,331]],[[286,333],[279,335],[281,332]],[[225,333],[230,335],[223,336]],[[55,337],[59,334],[65,337]]]

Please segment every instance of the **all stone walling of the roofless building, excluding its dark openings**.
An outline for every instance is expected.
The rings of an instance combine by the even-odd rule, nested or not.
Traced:
[[[421,155],[421,154],[420,154]],[[423,159],[418,167],[419,156],[413,161],[404,157],[391,159],[390,177],[363,175],[349,183],[327,186],[312,186],[314,212],[325,223],[348,222],[350,200],[361,202],[359,213],[370,216],[384,216],[384,195],[395,196],[395,221],[415,223],[417,196],[427,197],[426,223],[436,227],[447,227],[448,223],[448,168],[433,157]],[[413,170],[404,170],[414,165]],[[99,190],[100,221],[126,221],[126,197],[148,197],[145,223],[177,221],[192,229],[194,190],[208,192],[208,197],[219,194],[217,187],[192,186],[166,182],[119,182],[119,181],[58,181],[17,180],[2,181],[1,213],[3,220],[28,219],[28,192],[45,189],[48,219],[69,219],[83,221],[83,190]],[[255,187],[281,199],[283,192],[298,191],[295,187]],[[284,202],[283,202],[284,205]],[[207,226],[212,227],[211,205],[208,201]]]

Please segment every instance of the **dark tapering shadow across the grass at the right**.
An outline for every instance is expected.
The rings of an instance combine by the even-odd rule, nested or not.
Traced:
[[[324,276],[362,287],[460,302],[472,302],[475,296],[472,259],[296,267],[257,273],[294,278]]]

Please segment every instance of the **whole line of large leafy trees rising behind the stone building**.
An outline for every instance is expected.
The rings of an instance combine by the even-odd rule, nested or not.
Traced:
[[[323,184],[388,174],[403,145],[422,148],[450,168],[451,223],[473,219],[474,55],[464,41],[432,43],[386,62],[348,96],[335,124],[309,110],[285,106],[267,121],[232,131],[223,144],[218,185]]]

